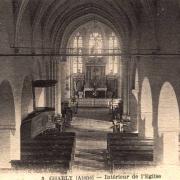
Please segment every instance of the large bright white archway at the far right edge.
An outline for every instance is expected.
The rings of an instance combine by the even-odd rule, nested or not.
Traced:
[[[158,134],[160,161],[164,164],[179,162],[179,107],[175,91],[169,82],[165,82],[160,91],[158,106]]]

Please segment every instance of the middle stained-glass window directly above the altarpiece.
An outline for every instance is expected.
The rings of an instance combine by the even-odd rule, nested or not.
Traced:
[[[101,54],[103,47],[102,35],[98,32],[93,32],[90,34],[89,38],[89,53],[93,54]]]

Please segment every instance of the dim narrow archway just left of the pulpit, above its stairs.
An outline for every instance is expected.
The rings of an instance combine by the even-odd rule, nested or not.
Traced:
[[[33,93],[32,80],[30,77],[25,77],[21,95],[21,118],[25,118],[28,113],[33,111]]]

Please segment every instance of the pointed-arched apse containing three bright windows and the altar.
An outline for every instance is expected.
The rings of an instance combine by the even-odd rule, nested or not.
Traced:
[[[118,97],[121,58],[115,54],[120,52],[120,42],[109,26],[97,20],[79,26],[69,38],[67,51],[74,54],[67,57],[65,71],[70,97]]]

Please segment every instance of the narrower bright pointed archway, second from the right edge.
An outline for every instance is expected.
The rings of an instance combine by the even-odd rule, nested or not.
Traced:
[[[152,126],[152,94],[151,87],[147,77],[144,78],[141,90],[141,122],[144,126],[143,135],[153,137]],[[141,129],[142,131],[143,129]]]

